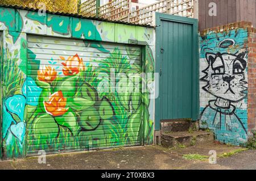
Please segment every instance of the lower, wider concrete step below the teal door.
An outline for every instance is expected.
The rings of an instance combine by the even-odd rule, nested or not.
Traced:
[[[179,146],[195,146],[209,144],[214,142],[214,136],[212,132],[195,131],[189,132],[165,132],[162,133],[161,143],[165,147],[179,147]]]

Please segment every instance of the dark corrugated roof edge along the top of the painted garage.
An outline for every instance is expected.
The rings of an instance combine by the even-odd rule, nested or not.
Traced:
[[[14,6],[14,5],[1,5],[0,7],[7,7],[7,8],[12,8],[12,9],[18,9],[18,10],[27,10],[27,11],[39,11],[39,9],[34,9],[30,7],[23,7],[23,6]],[[122,22],[120,20],[109,20],[105,18],[96,18],[92,16],[83,16],[81,14],[70,14],[66,12],[52,12],[52,11],[46,11],[48,14],[55,14],[55,15],[61,15],[61,16],[71,16],[75,18],[84,18],[84,19],[91,19],[91,20],[99,20],[102,22],[110,22],[110,23],[119,23],[119,24],[128,24],[128,25],[133,25],[133,26],[141,26],[141,27],[148,27],[148,28],[154,28],[154,26],[148,25],[148,24],[137,24],[137,23],[128,23],[128,22]]]

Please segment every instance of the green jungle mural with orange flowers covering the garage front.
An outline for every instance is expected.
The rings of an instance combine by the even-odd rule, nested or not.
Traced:
[[[136,34],[138,40],[146,40],[148,44],[145,48],[145,61],[141,63],[142,71],[154,73],[152,44],[143,37],[153,37],[153,31],[136,27],[138,32],[123,33],[120,30],[125,29],[125,26],[120,25],[119,33],[114,35],[119,40],[114,41],[110,31],[115,27],[114,23],[100,24],[95,20],[49,14],[38,16],[36,12],[3,7],[0,7],[0,14],[0,30],[4,42],[4,158],[24,157],[27,153],[42,149],[57,152],[65,149],[129,146],[140,141],[141,135],[144,136],[144,144],[152,144],[154,115],[150,113],[150,93],[122,94],[98,90],[102,81],[97,77],[100,73],[109,73],[110,68],[114,67],[118,73],[128,74],[127,70],[141,73],[141,67],[134,64],[141,58],[140,54],[134,53],[136,50],[131,47],[120,49],[118,45],[109,50],[106,48],[108,46],[104,47],[104,44],[96,41],[84,41],[84,48],[90,49],[94,52],[93,57],[98,58],[86,60],[85,55],[81,56],[74,51],[67,56],[59,56],[58,60],[53,58],[57,54],[52,52],[52,57],[43,60],[36,56],[40,52],[27,48],[26,33],[119,43],[129,43],[130,39],[135,39]],[[18,18],[16,21],[3,18],[9,16]],[[39,45],[39,42],[35,45]],[[100,53],[108,56],[97,56]],[[154,77],[144,81],[154,82]],[[139,119],[141,121],[138,122]],[[143,134],[138,135],[142,121]]]

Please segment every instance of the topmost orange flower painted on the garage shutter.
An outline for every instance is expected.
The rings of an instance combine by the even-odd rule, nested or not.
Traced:
[[[63,59],[63,57],[61,57]],[[64,63],[63,74],[66,76],[77,75],[81,70],[84,69],[84,64],[82,63],[82,58],[76,54],[73,57],[68,57],[68,60]]]

